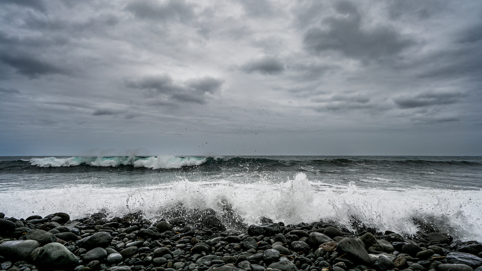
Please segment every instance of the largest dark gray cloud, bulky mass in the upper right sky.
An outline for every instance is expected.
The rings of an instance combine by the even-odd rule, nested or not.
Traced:
[[[388,25],[373,29],[362,27],[362,14],[348,0],[338,1],[336,11],[342,16],[329,17],[321,27],[308,29],[304,44],[315,53],[334,50],[362,60],[391,57],[415,44],[415,41]]]

